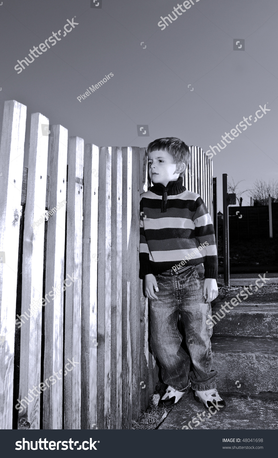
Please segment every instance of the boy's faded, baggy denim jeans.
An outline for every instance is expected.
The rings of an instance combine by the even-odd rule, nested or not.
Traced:
[[[212,370],[210,338],[212,328],[206,321],[211,305],[203,296],[204,267],[182,267],[156,275],[158,300],[150,300],[151,339],[153,353],[162,368],[162,379],[179,391],[198,391],[216,388],[217,371]],[[177,327],[179,319],[185,332]]]

